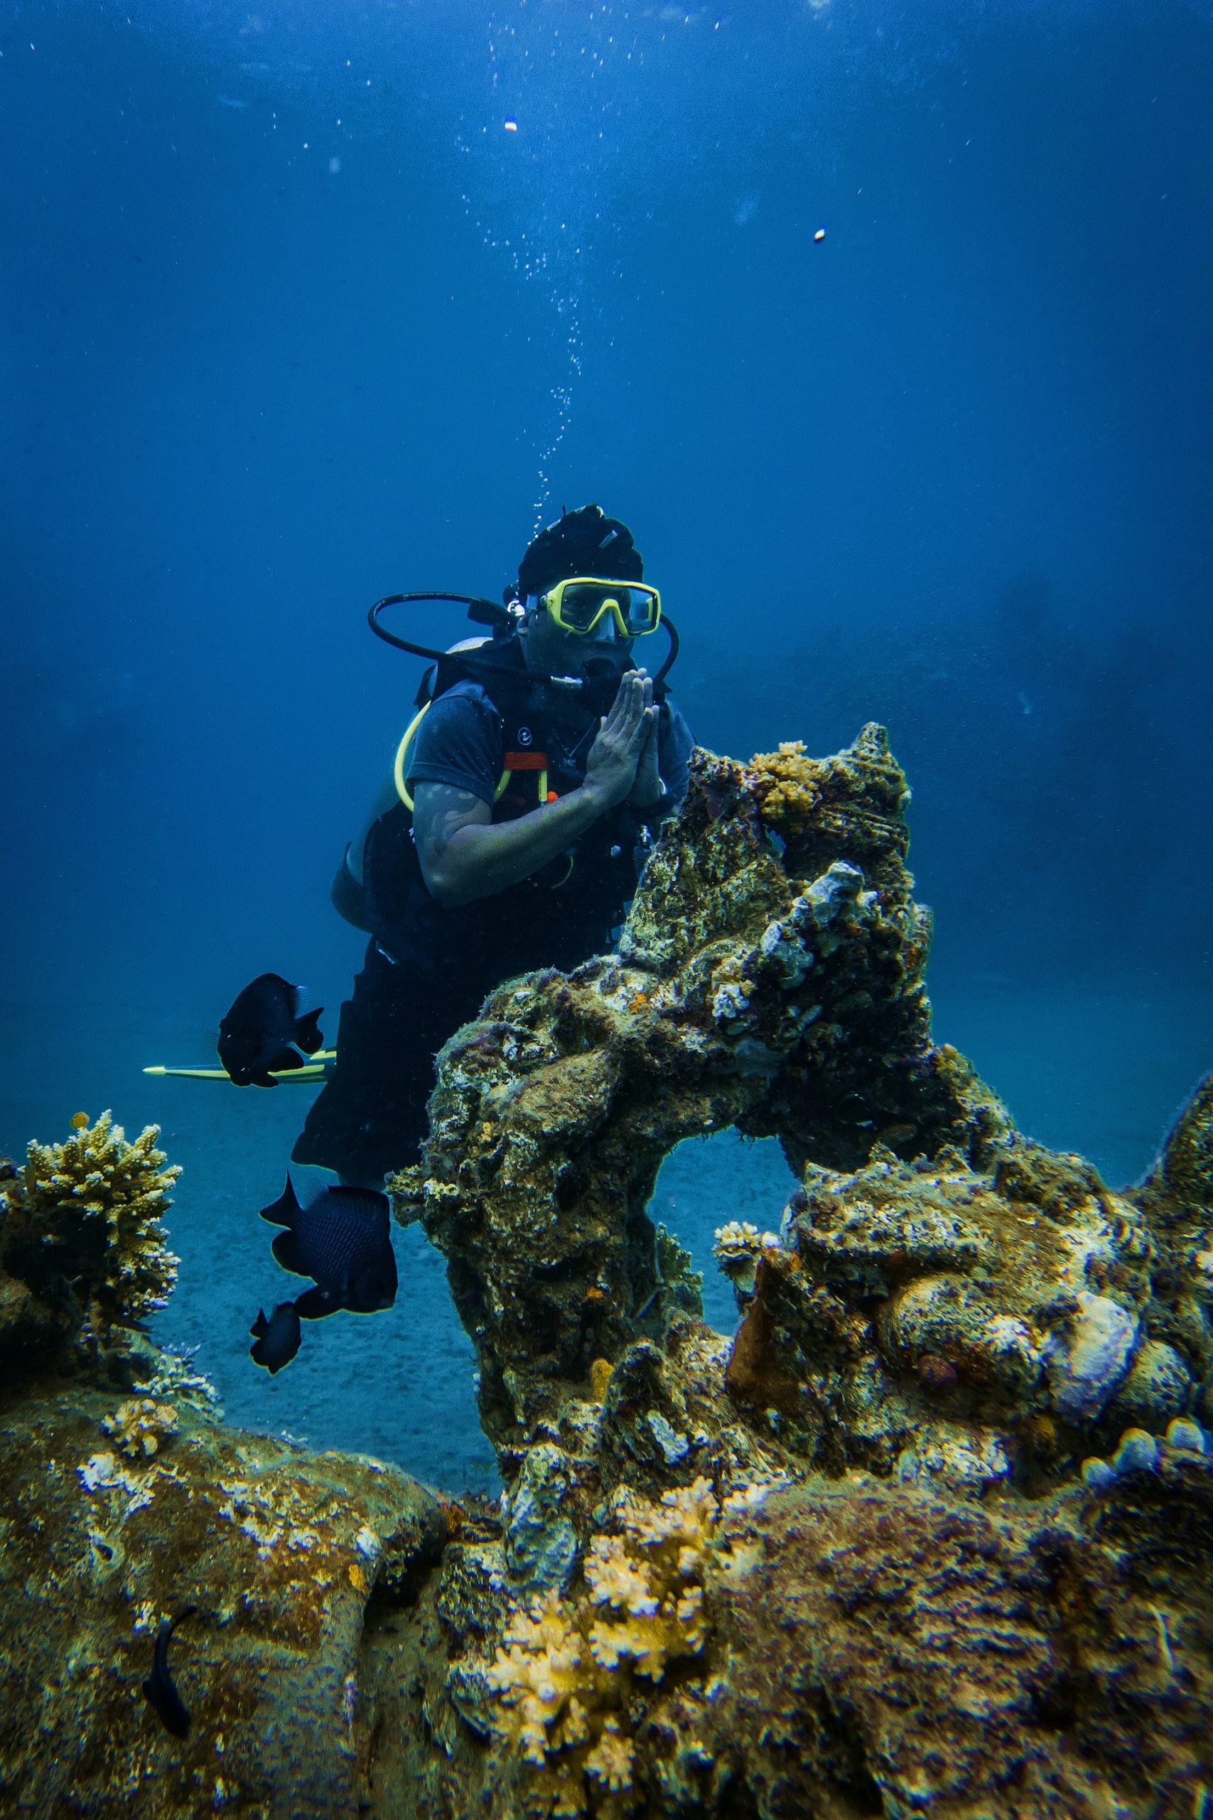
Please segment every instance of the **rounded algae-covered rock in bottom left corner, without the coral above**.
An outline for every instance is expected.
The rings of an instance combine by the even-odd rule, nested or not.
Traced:
[[[395,1467],[196,1410],[153,1425],[145,1451],[145,1412],[82,1385],[0,1416],[5,1811],[353,1816],[367,1603],[407,1603],[442,1551],[440,1502]],[[175,1738],[142,1682],[187,1607]]]

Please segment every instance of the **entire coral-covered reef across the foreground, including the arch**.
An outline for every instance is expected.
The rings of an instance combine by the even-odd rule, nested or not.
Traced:
[[[1213,1077],[1135,1188],[1018,1132],[931,1039],[907,799],[877,726],[697,752],[618,950],[440,1054],[389,1190],[498,1505],[222,1425],[140,1330],[155,1134],[0,1179],[15,1811],[1213,1811]],[[647,1207],[729,1125],[797,1187],[717,1236],[724,1336]]]

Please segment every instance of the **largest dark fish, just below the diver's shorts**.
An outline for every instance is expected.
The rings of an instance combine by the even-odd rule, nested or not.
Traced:
[[[295,1299],[306,1321],[318,1321],[336,1309],[375,1314],[396,1299],[396,1254],[391,1249],[387,1196],[375,1188],[324,1188],[300,1207],[291,1178],[262,1219],[286,1227],[275,1239],[275,1258],[284,1270],[309,1276],[315,1289]]]

